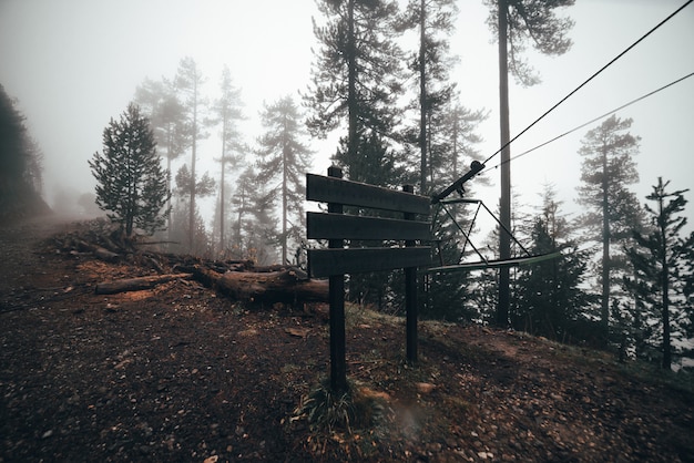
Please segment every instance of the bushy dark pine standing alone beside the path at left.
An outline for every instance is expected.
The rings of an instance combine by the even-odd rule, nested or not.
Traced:
[[[98,183],[96,204],[126,236],[135,227],[149,234],[163,227],[171,196],[169,173],[156,155],[149,121],[135,104],[127,106],[120,121],[111,119],[103,131],[103,154],[94,153],[89,165]]]

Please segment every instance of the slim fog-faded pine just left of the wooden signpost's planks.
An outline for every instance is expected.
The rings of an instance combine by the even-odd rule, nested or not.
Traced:
[[[310,150],[302,143],[302,114],[290,96],[266,105],[261,114],[264,135],[258,140],[258,183],[278,191],[282,220],[278,236],[282,263],[287,263],[287,247],[298,245],[304,236],[304,174],[310,164]]]

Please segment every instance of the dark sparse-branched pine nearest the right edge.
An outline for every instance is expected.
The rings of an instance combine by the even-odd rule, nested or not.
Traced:
[[[687,203],[684,193],[688,189],[666,192],[667,185],[670,182],[663,183],[663,178],[659,177],[657,185],[653,186],[653,193],[646,196],[646,199],[656,205],[655,208],[647,204],[644,206],[653,230],[647,235],[634,232],[634,239],[640,247],[630,247],[625,251],[636,276],[625,280],[637,299],[643,300],[646,307],[657,308],[660,312],[663,356],[661,366],[670,370],[673,351],[672,328],[684,318],[682,305],[685,301],[684,290],[687,281],[683,278],[683,270],[686,254],[694,246],[694,234],[686,239],[680,236],[686,225],[686,217],[677,214],[684,212]],[[673,312],[677,312],[680,317],[673,319]]]

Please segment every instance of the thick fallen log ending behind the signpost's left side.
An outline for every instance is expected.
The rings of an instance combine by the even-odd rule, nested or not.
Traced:
[[[214,287],[225,296],[251,302],[327,302],[328,281],[310,280],[298,269],[254,272],[227,271],[217,274],[197,266],[193,278]]]

